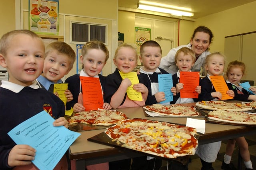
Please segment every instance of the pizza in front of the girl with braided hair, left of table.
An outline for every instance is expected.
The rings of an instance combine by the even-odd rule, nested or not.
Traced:
[[[124,119],[127,119],[127,116],[121,111],[91,110],[75,113],[67,121],[69,124],[85,123],[90,125],[110,126]]]

